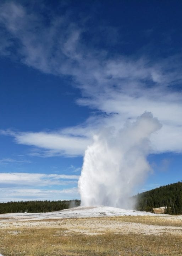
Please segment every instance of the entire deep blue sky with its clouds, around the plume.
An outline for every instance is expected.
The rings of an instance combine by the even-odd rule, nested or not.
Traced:
[[[142,192],[181,180],[181,1],[1,1],[0,201],[79,198],[84,151],[145,111]]]

